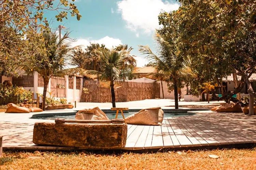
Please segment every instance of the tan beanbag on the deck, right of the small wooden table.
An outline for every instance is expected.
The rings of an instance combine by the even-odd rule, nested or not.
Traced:
[[[163,110],[161,107],[142,109],[125,118],[127,124],[137,125],[162,125]]]

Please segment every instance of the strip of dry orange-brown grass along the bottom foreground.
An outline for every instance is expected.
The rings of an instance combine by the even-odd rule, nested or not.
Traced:
[[[255,155],[255,149],[117,155],[5,152],[0,169],[256,169]]]

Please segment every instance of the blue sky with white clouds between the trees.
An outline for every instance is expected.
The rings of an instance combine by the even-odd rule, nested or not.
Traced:
[[[69,0],[72,2],[71,0]],[[105,44],[111,48],[119,44],[128,44],[134,48],[132,55],[137,56],[137,66],[148,63],[138,51],[139,45],[149,45],[156,52],[153,35],[159,28],[158,15],[161,10],[174,11],[180,6],[176,0],[75,0],[82,18],[68,15],[68,20],[51,22],[51,28],[63,25],[68,28],[70,37],[75,39],[72,45],[92,43]],[[56,11],[48,11],[48,20],[54,19]]]

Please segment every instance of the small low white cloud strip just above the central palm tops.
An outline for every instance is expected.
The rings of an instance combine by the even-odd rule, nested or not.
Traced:
[[[123,44],[122,41],[119,39],[119,38],[112,38],[112,37],[109,37],[109,36],[105,36],[99,40],[89,40],[89,39],[86,39],[86,38],[79,38],[77,39],[77,41],[75,42],[72,42],[71,43],[71,46],[72,47],[75,47],[75,46],[78,46],[78,45],[82,45],[84,47],[87,47],[89,44],[91,43],[98,43],[98,44],[105,44],[105,46],[107,48],[112,48],[113,46],[118,46],[119,44]]]

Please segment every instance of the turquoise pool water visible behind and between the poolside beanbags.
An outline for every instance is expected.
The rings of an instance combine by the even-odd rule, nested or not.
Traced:
[[[128,117],[129,115],[136,113],[136,112],[129,112],[129,113],[124,113],[125,118]],[[167,118],[167,117],[179,117],[179,116],[187,116],[188,114],[186,113],[164,113],[163,117]],[[116,113],[106,113],[106,116],[109,119],[115,119],[116,117]],[[62,118],[62,119],[75,119],[75,114],[74,115],[63,115],[63,116],[59,116],[59,115],[55,115],[55,116],[42,116],[42,117],[34,117],[32,119],[45,119],[45,120],[55,120],[56,118]],[[118,114],[118,119],[123,119],[122,117],[122,113]]]

